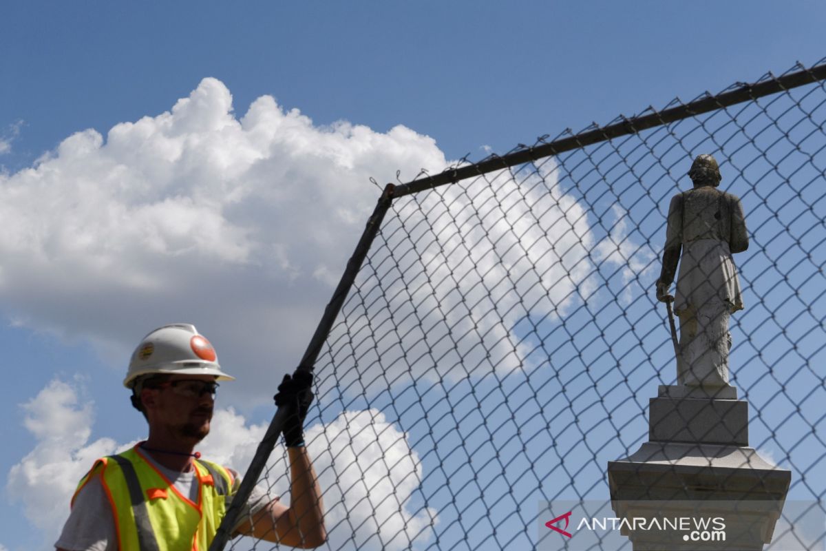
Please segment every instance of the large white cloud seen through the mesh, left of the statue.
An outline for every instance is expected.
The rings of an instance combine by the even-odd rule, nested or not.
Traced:
[[[358,289],[362,304],[330,337],[352,368],[322,378],[322,396],[514,373],[534,361],[520,322],[556,322],[595,296],[601,268],[619,268],[628,283],[653,258],[619,210],[597,239],[552,159],[527,175],[501,171],[402,197],[394,209],[370,258],[373,279]]]

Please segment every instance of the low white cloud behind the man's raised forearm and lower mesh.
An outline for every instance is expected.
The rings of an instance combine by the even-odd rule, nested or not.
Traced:
[[[246,466],[266,425],[246,425],[232,409],[216,411],[213,430],[200,449],[220,463]],[[407,436],[377,410],[343,411],[330,424],[306,430],[307,449],[324,492],[331,549],[410,549],[427,541],[438,522],[432,508],[411,510],[422,468]],[[288,464],[279,445],[259,486],[289,502]],[[233,549],[246,549],[239,541]]]

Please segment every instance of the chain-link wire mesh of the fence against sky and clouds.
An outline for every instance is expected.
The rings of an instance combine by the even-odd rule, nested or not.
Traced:
[[[797,67],[397,187],[316,363],[325,549],[533,549],[540,501],[608,499],[606,463],[648,438],[648,399],[675,382],[653,286],[701,153],[751,241],[730,355],[750,445],[790,469],[788,500],[823,501],[824,76]],[[288,496],[286,474],[274,458],[259,485]],[[824,537],[790,523],[769,549]]]

